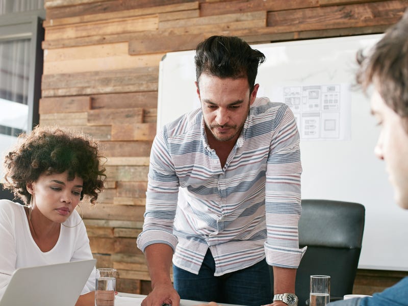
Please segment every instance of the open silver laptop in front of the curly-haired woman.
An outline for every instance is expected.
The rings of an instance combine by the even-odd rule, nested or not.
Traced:
[[[14,271],[0,306],[74,306],[96,259],[24,267]]]

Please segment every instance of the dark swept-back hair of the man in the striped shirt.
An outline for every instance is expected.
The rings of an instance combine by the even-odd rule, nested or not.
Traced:
[[[265,55],[239,37],[211,36],[197,45],[194,60],[197,84],[203,72],[221,79],[247,78],[252,92]]]

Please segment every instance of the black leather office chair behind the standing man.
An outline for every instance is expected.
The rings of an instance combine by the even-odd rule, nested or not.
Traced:
[[[351,294],[363,240],[365,208],[359,203],[302,200],[299,246],[308,246],[296,272],[299,306],[308,304],[310,275],[330,275],[330,301]],[[308,301],[309,302],[309,301]]]

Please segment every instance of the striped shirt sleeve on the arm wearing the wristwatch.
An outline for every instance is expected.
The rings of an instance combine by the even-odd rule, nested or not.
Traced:
[[[292,111],[283,106],[275,120],[266,171],[266,261],[271,266],[297,268],[306,250],[299,249],[300,138]],[[276,122],[276,123],[275,123]]]

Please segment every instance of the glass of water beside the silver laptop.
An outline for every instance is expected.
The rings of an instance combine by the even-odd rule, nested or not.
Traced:
[[[114,306],[116,290],[116,269],[96,269],[95,305]]]

